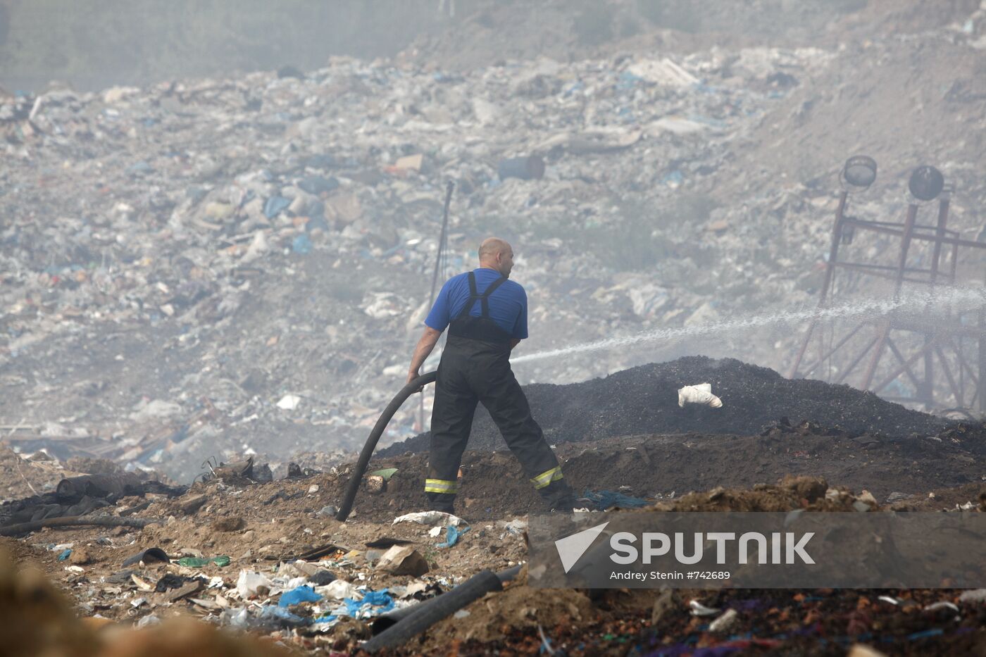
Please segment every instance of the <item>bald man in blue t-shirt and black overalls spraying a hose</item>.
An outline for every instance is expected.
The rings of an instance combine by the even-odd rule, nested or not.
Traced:
[[[572,489],[510,369],[510,352],[528,336],[528,295],[508,280],[514,250],[498,238],[479,247],[479,268],[450,278],[435,300],[414,348],[407,382],[418,377],[442,331],[449,339],[438,366],[432,408],[431,458],[425,494],[432,509],[453,513],[458,466],[481,401],[552,510],[571,511]]]

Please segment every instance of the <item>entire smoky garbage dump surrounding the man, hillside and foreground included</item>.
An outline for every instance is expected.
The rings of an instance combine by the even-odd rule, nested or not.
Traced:
[[[0,5],[12,66],[34,52],[23,17],[68,34],[28,4]],[[557,456],[546,474],[576,497],[549,517],[981,517],[982,404],[896,402],[981,392],[981,370],[932,376],[920,356],[947,359],[928,341],[887,346],[899,376],[882,397],[837,383],[831,359],[813,376],[832,383],[779,372],[808,320],[812,348],[839,343],[839,308],[818,304],[833,240],[884,278],[941,275],[919,303],[892,274],[840,279],[874,326],[951,322],[956,295],[982,296],[979,250],[950,254],[986,235],[986,5],[419,8],[431,27],[393,32],[405,46],[376,58],[247,58],[203,78],[162,72],[172,59],[148,45],[140,82],[25,87],[0,71],[5,651],[981,652],[986,589],[948,577],[538,588],[530,529],[548,509],[481,406],[439,481],[454,513],[430,508],[430,389],[357,456],[406,383],[433,277],[498,236],[529,301],[512,367]],[[205,40],[292,51],[270,45],[275,25],[231,20]],[[61,61],[44,59],[35,71]],[[847,177],[852,156],[874,164]],[[908,183],[919,166],[939,196]],[[834,231],[847,185],[861,188],[847,225],[913,234]],[[932,234],[948,254],[901,246]],[[981,341],[981,301],[954,320],[958,349]]]

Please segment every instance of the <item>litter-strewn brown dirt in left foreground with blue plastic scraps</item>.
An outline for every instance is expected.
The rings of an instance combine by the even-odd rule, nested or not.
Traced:
[[[291,483],[279,481],[276,487],[283,491]],[[473,529],[461,518],[440,512],[405,514],[386,526],[349,526],[340,535],[342,541],[307,548],[302,542],[314,534],[311,527],[343,529],[322,514],[308,513],[296,516],[308,526],[304,532],[256,552],[247,549],[240,554],[231,549],[231,556],[222,552],[268,534],[264,525],[269,528],[271,523],[253,521],[254,512],[296,513],[288,502],[290,496],[283,496],[275,506],[253,509],[247,499],[255,498],[232,479],[228,484],[220,479],[208,486],[198,484],[192,492],[199,494],[186,493],[173,501],[155,497],[144,512],[161,516],[170,509],[173,515],[156,518],[153,527],[117,526],[95,532],[91,527],[60,527],[58,532],[67,533],[60,535],[61,543],[44,543],[48,535],[42,530],[23,543],[5,545],[60,576],[94,627],[117,621],[133,622],[145,630],[161,623],[174,626],[176,616],[192,616],[269,633],[304,648],[331,648],[340,642],[351,648],[352,641],[369,638],[371,621],[392,624],[416,606],[454,589],[467,579],[461,573],[469,572],[477,556],[485,553],[485,562],[497,563],[507,554],[516,558],[524,549],[521,532],[526,522]],[[248,529],[242,516],[225,515],[229,504],[249,514]],[[197,513],[203,506],[205,511]],[[203,523],[208,523],[217,540],[198,542]],[[461,547],[467,534],[470,539],[478,535],[484,547],[491,543],[499,547],[493,551]],[[342,547],[354,542],[365,547]],[[196,545],[211,547],[211,553],[192,547]],[[271,560],[272,553],[279,555]],[[450,559],[458,565],[450,567]],[[234,564],[240,567],[231,571]],[[513,576],[519,566],[515,561],[509,565],[515,568]]]

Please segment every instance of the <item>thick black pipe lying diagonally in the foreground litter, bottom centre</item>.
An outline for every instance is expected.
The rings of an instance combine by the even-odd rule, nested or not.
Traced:
[[[517,570],[520,571],[520,566]],[[515,572],[514,575],[516,574]],[[492,570],[478,572],[452,591],[443,593],[420,605],[415,605],[407,616],[361,645],[360,649],[376,652],[384,648],[403,645],[439,620],[449,618],[458,610],[479,600],[490,591],[501,591],[504,581],[506,580],[501,579],[501,576]]]

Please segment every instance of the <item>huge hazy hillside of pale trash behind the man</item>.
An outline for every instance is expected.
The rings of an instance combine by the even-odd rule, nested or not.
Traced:
[[[986,198],[965,137],[982,12],[969,21],[875,37],[866,53],[927,62],[934,90],[952,90],[928,101],[954,120],[921,152],[960,190],[950,225],[963,232]],[[340,57],[304,74],[4,96],[4,439],[183,481],[209,456],[353,449],[403,383],[450,181],[440,273],[473,266],[487,235],[511,240],[528,353],[810,303],[838,167],[861,143],[833,141],[811,108],[818,94],[873,101],[874,76],[867,91],[851,78],[858,56],[648,50],[459,73]],[[765,160],[765,134],[801,158],[797,175]],[[918,144],[876,146],[881,172],[917,164]],[[901,185],[876,185],[860,212],[899,214]],[[738,346],[780,368],[796,340],[778,327],[518,373],[566,383]],[[420,417],[408,404],[385,444]]]

